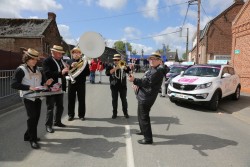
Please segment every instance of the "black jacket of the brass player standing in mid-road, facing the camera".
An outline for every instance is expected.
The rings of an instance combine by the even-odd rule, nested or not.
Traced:
[[[109,65],[106,68],[106,75],[109,76],[109,82],[111,87],[127,87],[127,77],[126,74],[128,74],[131,69],[127,67],[126,70],[123,70],[123,77],[121,79],[121,69],[116,70],[113,74],[110,74],[110,70],[114,68],[114,65]]]

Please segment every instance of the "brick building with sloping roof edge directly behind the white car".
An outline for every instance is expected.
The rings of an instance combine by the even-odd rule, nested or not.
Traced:
[[[230,7],[209,21],[205,28],[200,31],[197,63],[206,64],[208,60],[231,59],[232,22],[243,5],[243,0],[235,0]],[[193,48],[189,56],[189,61],[195,62],[196,36],[193,38]]]

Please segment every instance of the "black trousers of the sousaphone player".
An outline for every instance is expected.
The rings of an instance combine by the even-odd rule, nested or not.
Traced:
[[[85,105],[85,91],[86,85],[84,84],[69,84],[68,88],[68,116],[74,118],[75,116],[75,100],[76,94],[78,99],[78,117],[84,118],[86,105]]]

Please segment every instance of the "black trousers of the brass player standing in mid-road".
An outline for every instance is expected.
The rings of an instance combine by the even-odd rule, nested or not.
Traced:
[[[111,95],[112,95],[112,106],[113,106],[113,115],[117,115],[118,108],[118,94],[122,101],[122,111],[124,115],[128,114],[128,102],[127,102],[127,87],[117,87],[111,86]]]

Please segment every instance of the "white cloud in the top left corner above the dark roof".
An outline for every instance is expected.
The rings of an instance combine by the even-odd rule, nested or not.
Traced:
[[[1,0],[0,17],[21,18],[22,11],[40,12],[59,9],[62,9],[62,5],[55,0]]]

